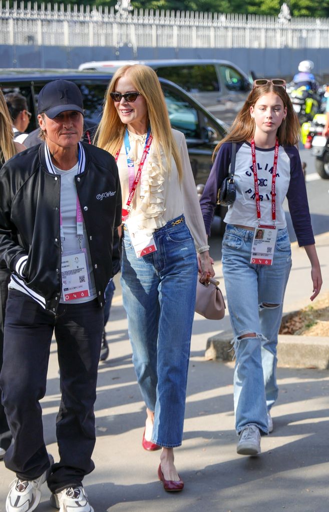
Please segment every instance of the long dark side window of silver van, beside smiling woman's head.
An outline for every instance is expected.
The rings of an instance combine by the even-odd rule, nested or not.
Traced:
[[[177,83],[189,93],[214,92],[219,90],[215,66],[168,66],[155,70],[158,76]]]

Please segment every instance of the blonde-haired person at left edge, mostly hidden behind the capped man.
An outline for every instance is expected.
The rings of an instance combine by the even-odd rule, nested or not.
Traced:
[[[9,158],[23,150],[25,150],[25,146],[18,142],[13,142],[12,121],[6,100],[0,89],[0,168]],[[9,280],[10,272],[8,270],[0,270],[0,371],[3,363],[4,322]],[[4,458],[10,443],[11,434],[4,407],[0,403],[0,460]]]

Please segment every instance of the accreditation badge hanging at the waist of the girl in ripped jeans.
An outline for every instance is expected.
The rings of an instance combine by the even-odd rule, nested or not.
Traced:
[[[277,234],[276,226],[259,224],[255,228],[250,263],[272,265]]]

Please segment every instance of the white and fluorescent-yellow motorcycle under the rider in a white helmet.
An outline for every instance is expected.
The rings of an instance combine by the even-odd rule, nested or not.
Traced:
[[[320,98],[312,89],[306,86],[296,87],[295,84],[290,84],[287,86],[287,93],[290,96],[300,124],[311,121],[315,114],[319,112]]]

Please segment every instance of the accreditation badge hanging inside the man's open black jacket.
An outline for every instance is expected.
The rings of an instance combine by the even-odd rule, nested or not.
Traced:
[[[62,254],[61,282],[65,302],[90,296],[86,252]]]

